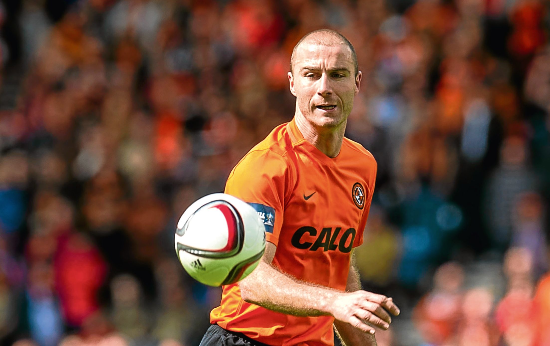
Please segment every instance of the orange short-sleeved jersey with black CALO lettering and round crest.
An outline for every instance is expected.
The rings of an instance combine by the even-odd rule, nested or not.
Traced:
[[[362,243],[376,161],[344,138],[335,158],[304,139],[294,120],[276,127],[233,168],[226,193],[249,202],[277,245],[273,265],[302,281],[345,290],[350,252]],[[246,303],[223,287],[211,323],[269,345],[333,345],[332,316],[296,317]]]

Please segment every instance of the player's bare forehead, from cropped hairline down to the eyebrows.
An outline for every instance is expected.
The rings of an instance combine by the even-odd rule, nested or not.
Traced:
[[[296,47],[294,67],[300,69],[304,66],[347,67],[350,71],[353,71],[353,54],[344,43],[327,46],[304,42]]]

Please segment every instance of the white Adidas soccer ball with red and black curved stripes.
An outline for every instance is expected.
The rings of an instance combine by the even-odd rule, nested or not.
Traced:
[[[220,286],[244,279],[266,249],[258,213],[237,197],[211,194],[185,210],[174,236],[178,259],[197,281]]]

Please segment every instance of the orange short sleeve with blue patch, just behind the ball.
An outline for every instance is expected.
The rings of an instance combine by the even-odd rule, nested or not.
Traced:
[[[264,149],[249,152],[233,168],[225,193],[254,207],[266,227],[266,240],[277,245],[289,188],[287,161],[279,153]]]

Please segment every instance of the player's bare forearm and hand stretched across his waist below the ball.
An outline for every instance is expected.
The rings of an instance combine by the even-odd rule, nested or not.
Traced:
[[[374,328],[364,322],[387,329],[389,315],[399,309],[391,299],[365,291],[340,292],[332,288],[301,282],[271,266],[277,247],[266,244],[263,261],[245,279],[239,282],[245,301],[267,309],[294,316],[332,315],[368,333]],[[384,310],[386,309],[386,310]]]

